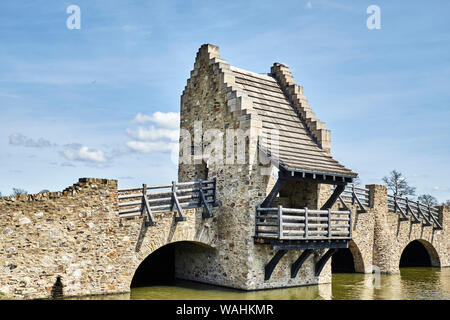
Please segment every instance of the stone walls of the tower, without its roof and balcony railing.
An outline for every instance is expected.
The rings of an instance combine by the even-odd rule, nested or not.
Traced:
[[[184,279],[247,290],[318,283],[319,278],[314,276],[314,260],[318,260],[322,252],[317,252],[305,262],[297,278],[290,278],[291,263],[301,254],[300,250],[283,257],[271,279],[264,281],[264,266],[275,251],[267,245],[254,243],[255,211],[270,191],[273,178],[263,174],[263,170],[269,167],[258,162],[256,139],[260,135],[261,120],[248,97],[235,88],[234,76],[229,68],[220,59],[217,47],[202,46],[181,97],[181,128],[192,134],[194,150],[203,148],[223,152],[218,158],[226,159],[226,146],[223,150],[211,150],[210,140],[195,139],[195,133],[200,130],[199,123],[203,132],[214,129],[218,132],[217,136],[226,133],[227,129],[248,130],[248,139],[232,142],[235,150],[232,164],[213,161],[211,157],[203,159],[208,166],[208,178],[217,178],[217,199],[221,206],[213,210],[215,217],[208,223],[217,239],[218,250],[215,255],[205,254],[195,261],[191,259],[189,265],[177,268],[180,270],[177,275]],[[227,138],[223,137],[223,140]],[[237,150],[242,145],[245,159],[239,163]],[[183,159],[183,148],[180,149],[180,159]],[[179,181],[189,181],[197,176],[198,165],[180,161]],[[296,206],[317,208],[319,198],[323,201],[317,185],[301,184],[284,190],[288,193],[293,190],[295,194],[285,198]],[[307,197],[299,198],[299,193]],[[193,275],[197,276],[194,278]],[[330,281],[329,264],[322,271],[320,281]]]

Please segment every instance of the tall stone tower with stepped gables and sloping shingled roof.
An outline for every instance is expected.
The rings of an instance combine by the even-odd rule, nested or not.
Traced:
[[[217,249],[195,257],[177,252],[177,276],[245,290],[328,282],[328,267],[314,273],[323,250],[291,278],[291,265],[306,247],[258,241],[256,208],[319,209],[330,184],[342,186],[355,176],[331,157],[330,132],[287,66],[275,63],[269,74],[258,74],[227,64],[217,46],[202,45],[181,96],[178,178],[217,179],[220,205],[213,218],[199,220]],[[267,277],[276,248],[286,258]]]

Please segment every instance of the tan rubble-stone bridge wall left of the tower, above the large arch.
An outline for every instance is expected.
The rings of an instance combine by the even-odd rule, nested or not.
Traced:
[[[63,192],[0,198],[0,298],[50,298],[129,292],[135,270],[176,241],[214,245],[201,213],[155,213],[139,252],[142,218],[119,219],[117,181],[83,178]]]

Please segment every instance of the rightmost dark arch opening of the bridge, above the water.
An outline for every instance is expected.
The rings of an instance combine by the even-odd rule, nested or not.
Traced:
[[[426,253],[428,257],[424,255]],[[428,261],[423,259],[428,258]],[[399,267],[408,266],[430,266],[440,267],[441,260],[436,248],[425,239],[414,239],[408,242],[400,251],[397,265]]]

